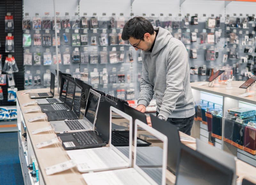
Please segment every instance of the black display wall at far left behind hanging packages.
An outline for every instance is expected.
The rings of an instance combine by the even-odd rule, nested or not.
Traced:
[[[10,12],[13,15],[14,19],[14,53],[5,53],[5,36],[8,33],[5,33],[5,22],[4,18],[7,12]],[[2,65],[4,66],[5,57],[8,54],[14,56],[16,64],[19,68],[19,72],[14,73],[15,87],[18,90],[24,89],[24,71],[23,71],[23,49],[22,49],[22,0],[1,0],[0,1],[0,54],[3,55]],[[0,100],[0,106],[9,106],[16,105],[16,102],[8,102],[8,83],[5,86],[2,86],[4,100]]]

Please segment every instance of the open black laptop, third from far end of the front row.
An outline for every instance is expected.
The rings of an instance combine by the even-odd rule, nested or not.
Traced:
[[[41,108],[41,111],[47,112],[47,111],[71,110],[72,104],[70,101],[73,102],[73,97],[75,95],[75,85],[76,85],[75,81],[68,79],[66,93],[63,94],[63,96],[65,95],[65,103],[64,104],[55,104],[55,103],[54,104],[40,104],[39,107]],[[69,94],[70,96],[67,96],[67,94]]]

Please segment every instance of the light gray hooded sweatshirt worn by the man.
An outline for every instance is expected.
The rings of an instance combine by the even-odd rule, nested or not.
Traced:
[[[180,40],[161,27],[152,52],[141,51],[142,76],[138,105],[148,106],[156,94],[158,116],[189,118],[195,103],[189,82],[188,52]]]

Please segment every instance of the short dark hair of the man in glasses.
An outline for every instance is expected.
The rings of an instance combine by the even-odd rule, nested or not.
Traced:
[[[154,28],[152,24],[144,17],[134,17],[125,23],[122,33],[122,39],[128,40],[130,37],[144,41],[144,34],[153,35]]]

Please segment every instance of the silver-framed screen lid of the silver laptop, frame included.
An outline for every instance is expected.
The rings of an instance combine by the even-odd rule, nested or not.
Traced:
[[[89,124],[92,124],[92,128],[94,129],[95,122],[97,119],[97,112],[100,104],[100,93],[90,89],[89,96],[86,102],[85,112],[84,112],[84,120],[88,121]]]

